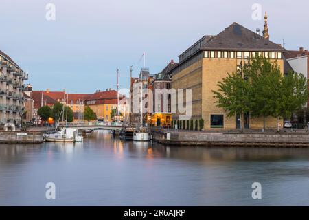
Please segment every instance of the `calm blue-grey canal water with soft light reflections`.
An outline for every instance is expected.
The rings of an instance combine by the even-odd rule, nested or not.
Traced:
[[[45,199],[47,182],[56,199]],[[166,147],[107,131],[76,144],[0,144],[0,205],[308,206],[309,149]]]

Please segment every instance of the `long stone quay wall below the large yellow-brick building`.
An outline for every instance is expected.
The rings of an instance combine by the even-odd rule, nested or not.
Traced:
[[[152,129],[156,142],[179,146],[273,146],[309,148],[309,133],[192,132]]]

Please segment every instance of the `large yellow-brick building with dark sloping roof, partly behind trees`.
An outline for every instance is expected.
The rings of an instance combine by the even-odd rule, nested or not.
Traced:
[[[238,23],[231,24],[216,36],[206,35],[179,55],[179,64],[172,69],[172,88],[192,89],[192,119],[205,121],[204,129],[236,129],[240,127],[240,115],[227,117],[227,113],[216,106],[212,90],[218,90],[217,83],[227,73],[237,72],[242,65],[249,63],[252,56],[262,55],[277,61],[284,72],[281,45],[269,40],[267,18],[264,32],[244,28]],[[173,120],[179,113],[172,114]],[[262,118],[244,115],[244,128],[262,129]],[[276,127],[275,118],[267,118],[266,127]]]

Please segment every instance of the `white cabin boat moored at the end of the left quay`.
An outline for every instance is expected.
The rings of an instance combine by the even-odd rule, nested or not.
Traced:
[[[60,132],[44,135],[46,142],[82,142],[82,135],[77,129],[62,129]]]

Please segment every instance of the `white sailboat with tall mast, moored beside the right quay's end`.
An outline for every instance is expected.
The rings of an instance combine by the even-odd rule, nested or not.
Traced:
[[[133,133],[133,141],[135,142],[148,142],[150,141],[150,132],[148,127],[143,126],[143,76],[141,72],[141,124]]]

